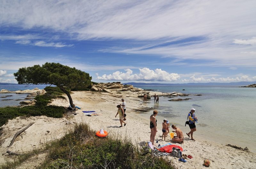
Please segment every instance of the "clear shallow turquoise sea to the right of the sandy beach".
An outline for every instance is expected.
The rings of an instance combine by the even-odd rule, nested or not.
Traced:
[[[238,86],[136,86],[143,89],[156,89],[159,92],[181,92],[189,96],[174,98],[191,98],[187,101],[171,102],[173,98],[154,97],[143,103],[159,110],[157,119],[167,118],[170,124],[178,125],[183,134],[190,131],[185,127],[188,112],[193,107],[198,118],[194,138],[206,138],[221,144],[248,147],[256,152],[256,130],[254,124],[256,88],[239,88]],[[182,90],[185,89],[185,90]],[[202,94],[196,96],[195,94]],[[144,113],[149,118],[152,112]]]

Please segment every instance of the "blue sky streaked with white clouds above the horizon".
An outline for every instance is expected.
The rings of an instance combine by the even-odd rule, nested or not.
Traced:
[[[0,0],[0,82],[59,62],[95,82],[256,81],[255,0]]]

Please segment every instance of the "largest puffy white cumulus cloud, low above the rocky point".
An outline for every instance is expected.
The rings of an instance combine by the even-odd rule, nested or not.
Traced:
[[[133,74],[131,69],[125,69],[126,73],[119,71],[109,75],[98,76],[98,80],[124,80],[124,81],[177,81],[179,74],[168,73],[161,69],[150,70],[146,67],[139,69],[139,74]]]

